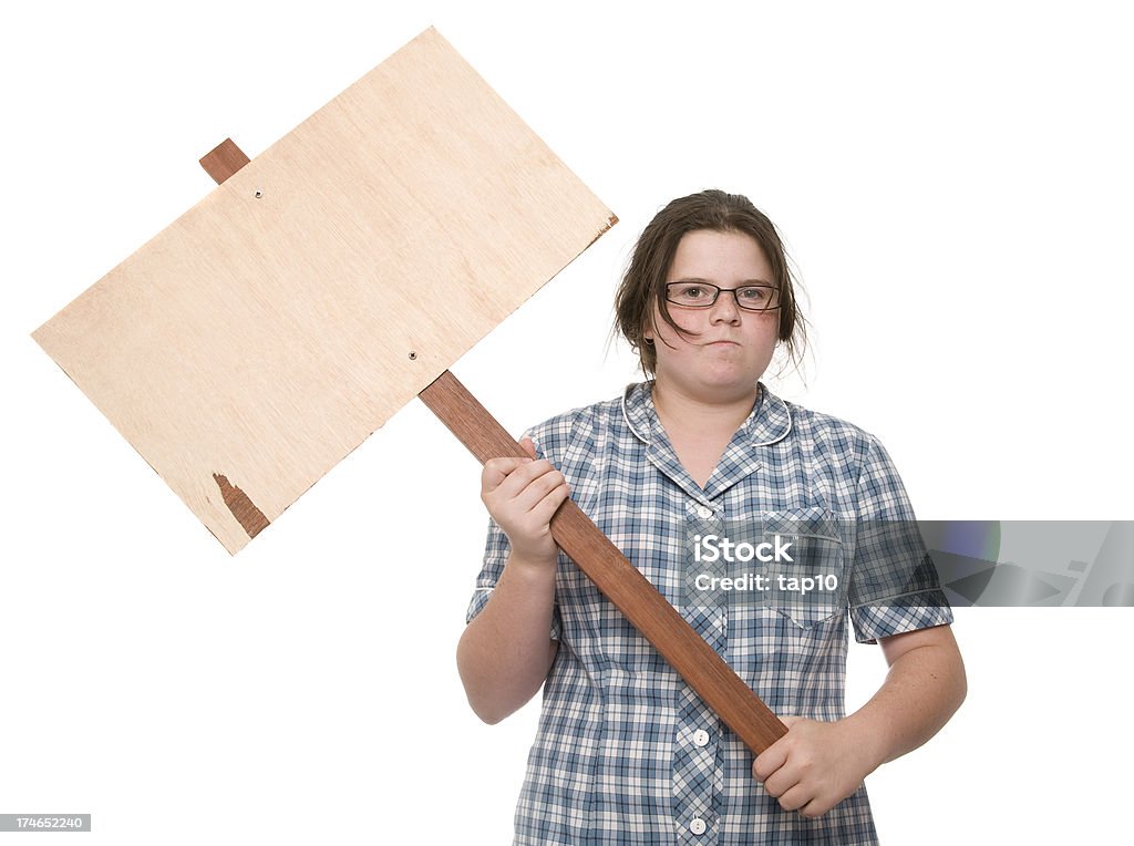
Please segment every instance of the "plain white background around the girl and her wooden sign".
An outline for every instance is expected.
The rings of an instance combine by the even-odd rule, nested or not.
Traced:
[[[211,189],[213,145],[255,155],[429,25],[621,219],[455,363],[510,431],[634,379],[607,345],[629,246],[719,186],[810,296],[806,383],[773,389],[878,434],[920,516],[1134,518],[1118,3],[408,6],[7,14],[0,813],[115,845],[509,839],[538,705],[465,704],[486,517],[440,423],[411,404],[230,558],[29,338]],[[1129,609],[955,631],[968,700],[869,779],[883,840],[1128,834]],[[855,708],[885,663],[850,651]]]

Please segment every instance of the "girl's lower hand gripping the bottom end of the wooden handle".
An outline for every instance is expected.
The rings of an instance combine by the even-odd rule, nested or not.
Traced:
[[[865,738],[846,720],[781,719],[787,734],[756,756],[752,775],[785,811],[820,817],[857,790],[878,765]]]

